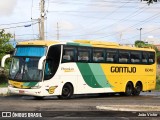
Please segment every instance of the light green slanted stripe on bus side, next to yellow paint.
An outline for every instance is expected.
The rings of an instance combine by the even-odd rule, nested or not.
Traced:
[[[89,66],[92,70],[92,73],[94,74],[96,81],[98,82],[98,84],[100,86],[102,86],[104,88],[111,86],[99,63],[97,63],[97,64],[96,63],[89,63]]]

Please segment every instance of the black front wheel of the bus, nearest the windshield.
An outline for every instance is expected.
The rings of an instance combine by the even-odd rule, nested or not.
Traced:
[[[67,83],[62,88],[62,95],[57,96],[59,99],[70,99],[73,96],[73,87]]]

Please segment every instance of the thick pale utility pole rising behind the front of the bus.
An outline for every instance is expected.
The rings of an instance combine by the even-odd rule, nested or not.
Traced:
[[[40,40],[45,40],[45,34],[44,34],[44,17],[45,17],[45,0],[41,0],[40,3],[41,7],[41,14],[40,14]]]

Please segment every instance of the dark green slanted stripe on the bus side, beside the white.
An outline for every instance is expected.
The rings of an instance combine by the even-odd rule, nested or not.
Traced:
[[[96,81],[96,78],[88,63],[77,63],[77,66],[88,86],[92,88],[102,88],[102,86]]]

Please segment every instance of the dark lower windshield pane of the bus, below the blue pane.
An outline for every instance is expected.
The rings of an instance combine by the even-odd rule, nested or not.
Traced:
[[[10,69],[9,79],[18,81],[40,81],[42,71],[38,70],[40,58],[14,57]]]

